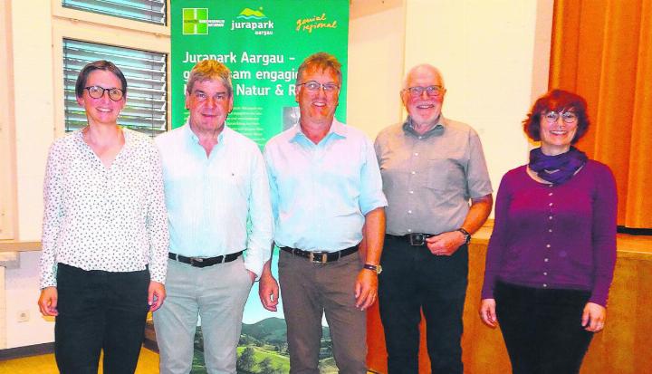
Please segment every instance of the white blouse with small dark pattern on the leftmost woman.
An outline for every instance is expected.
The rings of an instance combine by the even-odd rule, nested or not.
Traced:
[[[83,270],[134,272],[149,264],[165,283],[168,224],[158,151],[138,132],[110,168],[83,140],[82,130],[54,141],[43,187],[41,287],[56,286],[56,264]]]

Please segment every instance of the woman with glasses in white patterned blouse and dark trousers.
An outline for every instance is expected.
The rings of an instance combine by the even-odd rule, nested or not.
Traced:
[[[117,120],[127,81],[107,61],[75,86],[88,125],[54,141],[43,191],[43,315],[62,373],[136,369],[145,320],[165,299],[168,218],[158,150]]]

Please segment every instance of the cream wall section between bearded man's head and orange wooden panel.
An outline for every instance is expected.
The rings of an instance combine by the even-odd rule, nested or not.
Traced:
[[[527,160],[521,121],[547,91],[552,0],[408,0],[406,68],[444,74],[443,113],[483,141],[494,191]]]

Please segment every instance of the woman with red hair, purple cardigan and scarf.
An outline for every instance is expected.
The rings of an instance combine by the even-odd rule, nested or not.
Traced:
[[[601,331],[616,262],[616,184],[571,146],[587,131],[586,101],[539,98],[525,133],[541,148],[504,175],[489,241],[480,316],[500,321],[513,373],[577,373]]]

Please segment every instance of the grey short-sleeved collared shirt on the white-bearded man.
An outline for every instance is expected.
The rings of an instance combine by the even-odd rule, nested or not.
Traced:
[[[383,129],[375,148],[390,235],[455,230],[469,199],[492,193],[480,138],[464,123],[439,116],[433,129],[418,135],[408,117]]]

